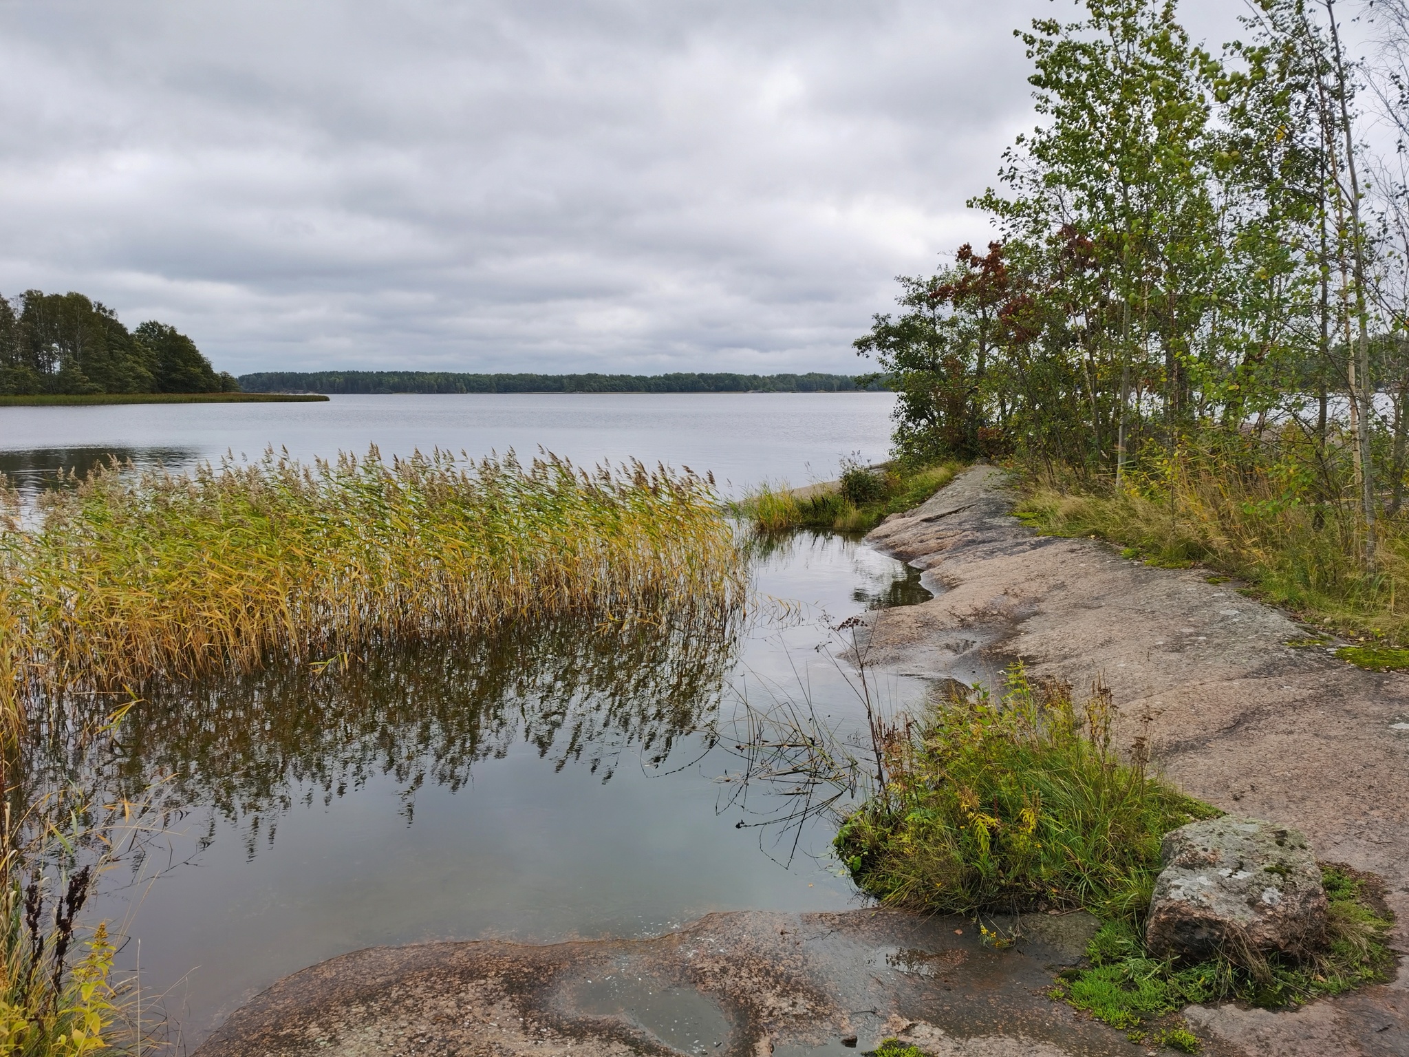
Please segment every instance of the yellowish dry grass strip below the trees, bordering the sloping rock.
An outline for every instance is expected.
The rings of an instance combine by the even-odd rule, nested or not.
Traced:
[[[1198,454],[1158,458],[1131,468],[1120,488],[1030,478],[1016,513],[1041,533],[1107,540],[1160,568],[1203,565],[1210,583],[1239,578],[1248,593],[1361,644],[1409,645],[1409,592],[1401,589],[1409,588],[1409,516],[1381,516],[1368,574],[1354,506],[1317,502],[1298,474],[1292,462],[1230,469]]]

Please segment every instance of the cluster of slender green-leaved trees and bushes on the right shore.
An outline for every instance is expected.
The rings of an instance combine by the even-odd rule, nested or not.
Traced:
[[[1038,121],[968,203],[999,237],[855,342],[899,454],[1164,489],[1172,519],[1177,478],[1246,486],[1374,569],[1409,475],[1409,0],[1361,4],[1365,61],[1336,0],[1254,0],[1216,54],[1174,0],[1081,7],[1016,32]]]

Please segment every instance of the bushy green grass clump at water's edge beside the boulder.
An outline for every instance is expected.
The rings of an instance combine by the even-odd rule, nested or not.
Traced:
[[[1078,706],[1022,668],[999,700],[931,700],[882,738],[885,784],[841,824],[843,861],[864,891],[917,910],[1143,908],[1161,837],[1217,812],[1148,774],[1143,754],[1122,762],[1113,712],[1102,688]]]

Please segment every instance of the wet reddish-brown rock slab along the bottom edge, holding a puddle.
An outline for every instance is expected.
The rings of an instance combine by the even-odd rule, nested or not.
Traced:
[[[803,1057],[889,1036],[934,1057],[1131,1053],[1044,995],[1091,919],[991,925],[1016,944],[989,950],[964,919],[851,910],[719,913],[651,940],[378,947],[287,977],[197,1053]]]

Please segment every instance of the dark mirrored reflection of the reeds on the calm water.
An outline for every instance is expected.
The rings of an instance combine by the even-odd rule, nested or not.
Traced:
[[[325,667],[283,664],[152,693],[96,761],[97,778],[130,798],[165,779],[173,808],[242,822],[249,854],[296,799],[327,806],[390,779],[410,822],[427,781],[458,792],[473,764],[503,760],[514,744],[604,782],[623,753],[657,765],[682,736],[709,727],[737,645],[737,622],[558,622]]]

